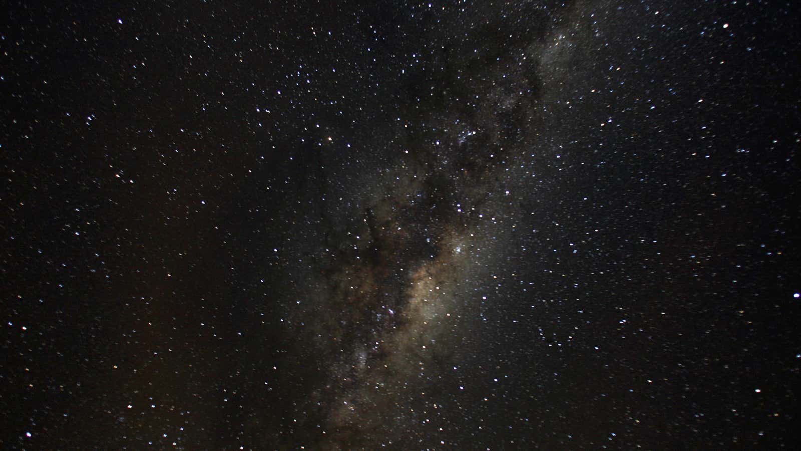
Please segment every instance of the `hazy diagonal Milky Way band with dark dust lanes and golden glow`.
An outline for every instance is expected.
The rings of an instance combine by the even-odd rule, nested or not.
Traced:
[[[434,52],[430,74],[409,82],[409,104],[377,132],[386,142],[364,145],[367,160],[380,148],[366,165],[378,171],[323,170],[361,190],[348,195],[345,216],[322,214],[336,232],[324,234],[290,319],[318,359],[320,387],[305,407],[322,418],[318,445],[410,440],[420,414],[401,406],[441,389],[434,375],[481,346],[469,335],[493,308],[481,287],[503,267],[507,226],[525,197],[552,195],[538,189],[531,161],[553,158],[548,142],[561,139],[548,112],[570,81],[583,16],[579,7],[488,8],[464,23],[463,38],[445,39],[453,47]]]

